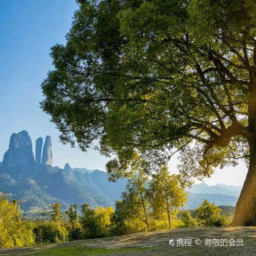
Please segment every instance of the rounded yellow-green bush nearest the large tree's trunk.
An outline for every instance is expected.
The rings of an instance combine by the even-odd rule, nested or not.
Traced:
[[[222,227],[227,226],[227,216],[221,215],[221,208],[204,200],[195,210],[196,220],[199,226],[203,227]]]

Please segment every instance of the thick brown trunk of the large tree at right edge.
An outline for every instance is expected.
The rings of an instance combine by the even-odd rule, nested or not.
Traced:
[[[249,141],[250,165],[231,226],[256,226],[256,137]]]

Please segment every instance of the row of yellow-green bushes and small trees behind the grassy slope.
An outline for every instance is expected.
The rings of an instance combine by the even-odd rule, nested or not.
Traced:
[[[163,172],[162,172],[163,173]],[[156,179],[157,176],[154,177]],[[168,182],[168,176],[166,181]],[[176,176],[169,176],[171,180],[176,180]],[[163,181],[163,180],[162,180]],[[208,201],[204,201],[199,208],[195,210],[196,221],[191,217],[190,211],[180,212],[180,218],[175,215],[170,218],[170,222],[166,218],[167,214],[163,208],[154,211],[149,196],[154,197],[155,194],[149,193],[152,189],[151,182],[144,172],[138,172],[132,179],[129,180],[127,190],[123,193],[123,200],[117,201],[115,210],[112,207],[96,207],[90,208],[88,204],[81,207],[82,215],[79,216],[76,205],[70,205],[66,211],[69,221],[66,222],[63,218],[54,219],[38,219],[37,221],[23,221],[21,219],[20,210],[16,201],[9,202],[7,197],[2,194],[0,197],[0,228],[1,228],[1,246],[33,246],[37,244],[63,243],[70,240],[102,238],[114,235],[126,235],[128,233],[144,232],[149,230],[161,230],[171,226],[176,227],[195,227],[196,221],[200,226],[219,227],[228,224],[227,216],[221,215],[221,209]],[[174,185],[172,184],[172,185]],[[174,186],[174,188],[176,188]],[[170,188],[173,190],[174,188]],[[180,189],[182,198],[183,190]],[[163,190],[163,187],[158,187],[158,190]],[[176,190],[174,190],[176,191]],[[174,196],[172,194],[172,196]],[[179,197],[178,197],[179,198]],[[176,202],[171,201],[172,203]],[[182,201],[180,201],[182,202]],[[144,207],[143,207],[144,205]],[[170,204],[171,205],[171,204]],[[171,205],[178,207],[177,204]],[[133,207],[133,208],[132,208]],[[154,205],[156,207],[156,205]],[[56,209],[54,217],[59,216],[61,205],[53,205]],[[161,208],[161,207],[160,207]],[[146,213],[146,215],[145,215]],[[148,226],[146,224],[146,217]],[[9,236],[7,236],[6,225],[2,224],[7,221],[9,226]],[[13,232],[15,231],[15,232]],[[6,240],[4,240],[6,238]],[[7,239],[8,238],[8,239]],[[4,243],[5,242],[5,243]]]

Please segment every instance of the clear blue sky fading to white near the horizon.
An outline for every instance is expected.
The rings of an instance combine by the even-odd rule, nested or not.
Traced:
[[[61,144],[58,130],[39,108],[41,82],[53,68],[50,48],[65,43],[76,9],[74,0],[0,0],[0,161],[10,135],[27,130],[34,144],[38,137],[52,137],[54,165],[105,169],[107,158],[98,152]],[[170,169],[175,171],[177,163],[177,158],[171,160]],[[246,171],[241,163],[217,170],[205,181],[241,185]]]

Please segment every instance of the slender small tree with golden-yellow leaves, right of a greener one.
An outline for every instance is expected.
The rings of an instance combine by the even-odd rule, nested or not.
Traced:
[[[149,185],[149,198],[154,212],[165,212],[171,229],[171,214],[187,201],[187,194],[180,185],[178,175],[170,175],[167,166],[155,174]]]

